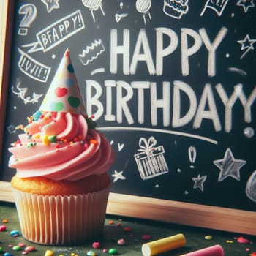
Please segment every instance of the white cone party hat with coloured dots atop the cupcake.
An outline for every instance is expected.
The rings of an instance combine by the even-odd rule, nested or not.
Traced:
[[[59,68],[39,110],[86,115],[86,108],[83,104],[68,49],[61,59]]]

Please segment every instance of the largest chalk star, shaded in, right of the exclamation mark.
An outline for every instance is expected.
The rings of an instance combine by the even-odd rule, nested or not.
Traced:
[[[230,148],[227,148],[224,158],[214,161],[214,165],[220,170],[218,181],[221,182],[229,176],[240,181],[240,169],[245,164],[246,161],[235,159]]]

